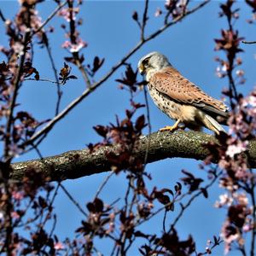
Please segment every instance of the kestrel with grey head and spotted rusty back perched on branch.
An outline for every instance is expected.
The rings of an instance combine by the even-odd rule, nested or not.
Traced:
[[[202,127],[206,127],[218,135],[225,132],[222,125],[227,125],[229,108],[184,78],[165,55],[156,51],[144,55],[138,61],[137,68],[145,76],[149,94],[156,106],[176,120],[174,125],[160,131],[176,131],[185,127],[201,131]]]

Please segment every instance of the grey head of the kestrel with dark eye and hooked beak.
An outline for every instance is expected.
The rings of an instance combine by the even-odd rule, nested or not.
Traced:
[[[148,55],[143,56],[138,61],[137,68],[139,73],[148,75],[148,72],[156,72],[164,67],[170,67],[171,64],[167,60],[165,55],[160,54],[157,51],[151,52]]]

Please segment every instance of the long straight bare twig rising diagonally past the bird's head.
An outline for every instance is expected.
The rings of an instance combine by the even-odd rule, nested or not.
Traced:
[[[71,102],[69,105],[67,105],[66,108],[64,108],[61,113],[59,113],[58,115],[55,116],[54,119],[52,119],[51,121],[49,121],[49,123],[47,125],[44,126],[44,128],[40,131],[38,131],[35,135],[33,135],[27,142],[26,144],[32,143],[35,140],[37,140],[39,137],[41,137],[42,135],[44,135],[45,133],[48,133],[50,131],[50,129],[62,118],[64,118],[67,113],[69,113],[74,107],[76,107],[79,102],[82,102],[84,100],[84,98],[86,96],[89,96],[91,92],[93,92],[94,90],[96,90],[101,84],[103,84],[109,77],[111,77],[113,75],[113,73],[119,68],[121,67],[125,61],[127,61],[128,58],[131,57],[131,55],[133,55],[138,49],[140,49],[143,44],[147,43],[148,41],[152,40],[153,38],[157,37],[161,32],[164,32],[168,27],[173,26],[174,24],[176,24],[178,21],[183,20],[184,17],[191,15],[193,13],[195,13],[195,11],[197,11],[198,9],[201,9],[203,6],[205,6],[207,3],[209,3],[209,0],[206,0],[200,4],[198,4],[194,9],[189,10],[185,15],[181,15],[178,16],[175,20],[172,20],[171,22],[169,22],[168,24],[166,24],[165,26],[162,26],[158,31],[152,33],[150,36],[148,36],[148,38],[145,38],[143,41],[140,41],[133,49],[131,49],[131,51],[126,54],[121,61],[119,61],[119,63],[117,63],[116,65],[114,65],[111,70],[104,76],[102,77],[102,79],[100,79],[98,82],[92,84],[90,86],[90,88],[87,88],[86,90],[84,90],[83,94],[81,96],[79,96],[78,98],[76,98],[73,102]]]

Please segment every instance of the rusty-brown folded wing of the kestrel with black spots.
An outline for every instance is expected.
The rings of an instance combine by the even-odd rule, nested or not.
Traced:
[[[166,67],[163,71],[154,73],[149,79],[149,84],[152,84],[156,90],[172,100],[184,104],[201,108],[202,110],[218,114],[224,118],[228,118],[228,107],[224,102],[220,102],[211,96],[208,96],[195,84],[192,84],[188,79],[185,79],[175,68]]]

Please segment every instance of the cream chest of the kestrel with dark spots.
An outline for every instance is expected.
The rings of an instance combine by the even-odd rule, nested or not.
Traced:
[[[171,119],[179,119],[181,115],[181,105],[172,102],[169,97],[161,94],[151,84],[148,84],[149,94],[152,97],[154,103],[163,113],[166,113]]]

